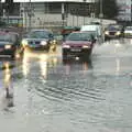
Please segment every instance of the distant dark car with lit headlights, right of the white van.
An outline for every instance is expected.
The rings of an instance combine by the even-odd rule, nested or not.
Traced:
[[[105,40],[119,38],[123,36],[124,28],[121,24],[110,24],[105,30]]]

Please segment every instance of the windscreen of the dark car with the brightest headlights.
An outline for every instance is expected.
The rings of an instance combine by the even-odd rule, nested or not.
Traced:
[[[30,38],[48,38],[50,33],[45,31],[33,31],[28,34]]]

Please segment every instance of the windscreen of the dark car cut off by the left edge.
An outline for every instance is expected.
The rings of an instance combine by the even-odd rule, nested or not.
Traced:
[[[0,33],[0,41],[15,42],[15,35],[9,33]]]

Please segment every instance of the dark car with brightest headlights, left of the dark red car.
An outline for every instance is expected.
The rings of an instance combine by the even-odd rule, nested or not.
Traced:
[[[48,52],[52,48],[55,52],[57,41],[50,30],[31,30],[22,38],[21,45],[24,50],[44,50]]]

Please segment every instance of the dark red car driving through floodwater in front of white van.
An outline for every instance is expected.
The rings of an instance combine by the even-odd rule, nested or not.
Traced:
[[[92,52],[95,37],[89,32],[73,32],[63,43],[63,61],[68,57],[89,58]]]

